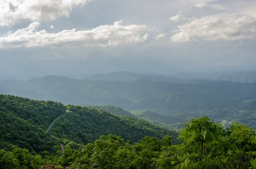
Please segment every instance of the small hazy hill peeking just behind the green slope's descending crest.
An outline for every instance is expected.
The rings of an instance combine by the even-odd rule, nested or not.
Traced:
[[[102,105],[102,106],[87,106],[87,107],[91,107],[93,109],[98,109],[98,110],[106,110],[107,112],[113,113],[115,115],[121,115],[121,116],[136,118],[136,116],[133,115],[132,113],[130,113],[130,112],[124,110],[124,109],[121,109],[120,107],[117,107],[117,106]]]

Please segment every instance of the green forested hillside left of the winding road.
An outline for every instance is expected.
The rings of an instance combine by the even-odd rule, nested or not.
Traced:
[[[45,130],[65,110],[57,102],[0,95],[0,148],[11,150],[15,145],[34,153],[54,153],[58,140]]]

